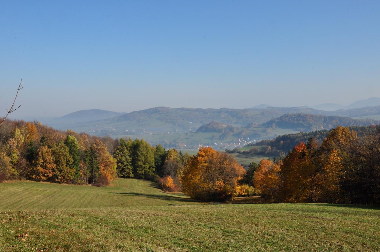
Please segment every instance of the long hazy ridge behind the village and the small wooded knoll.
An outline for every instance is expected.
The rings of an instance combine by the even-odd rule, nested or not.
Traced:
[[[237,127],[245,127],[250,123],[265,123],[285,113],[312,113],[324,115],[326,112],[310,108],[270,107],[266,109],[191,109],[155,107],[125,113],[103,120],[84,123],[62,123],[55,127],[75,131],[91,131],[93,134],[103,134],[102,129],[114,128],[108,132],[111,135],[123,134],[175,134],[193,132],[201,125],[211,121],[219,121]]]

